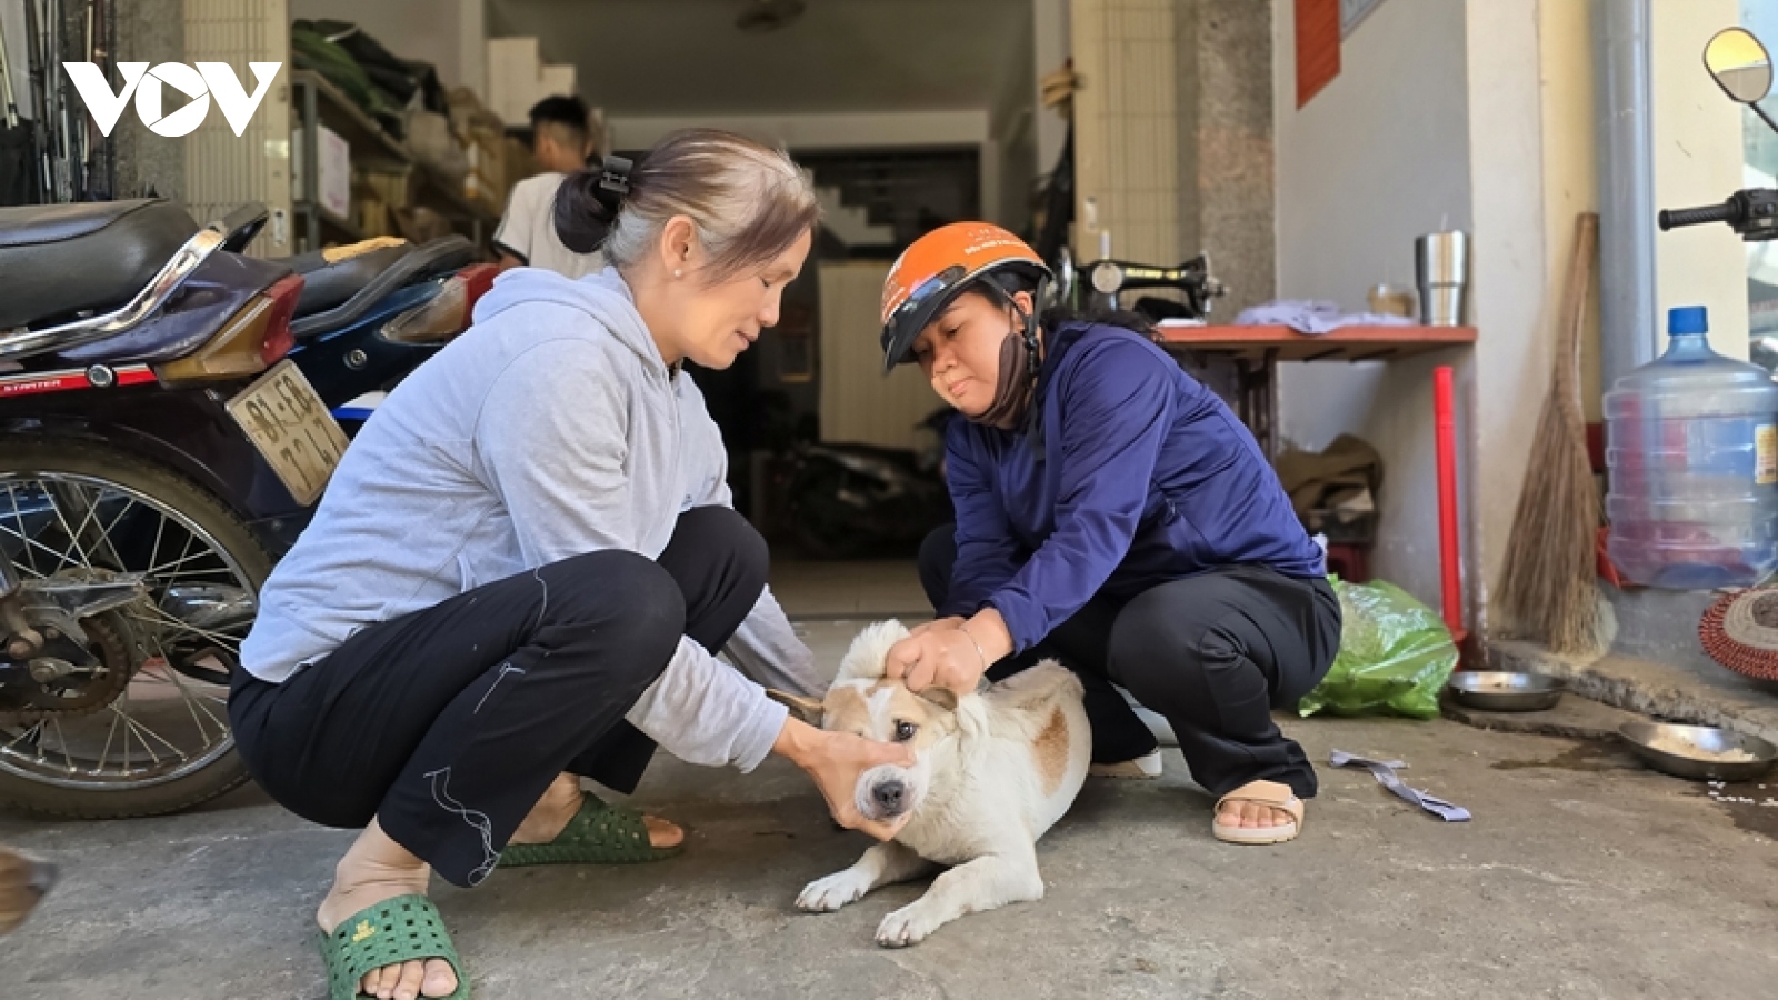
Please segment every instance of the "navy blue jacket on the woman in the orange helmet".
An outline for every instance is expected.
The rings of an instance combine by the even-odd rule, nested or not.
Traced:
[[[941,616],[994,605],[1019,651],[1095,594],[1127,600],[1220,566],[1321,577],[1321,548],[1253,434],[1165,351],[1063,324],[1038,374],[1037,440],[951,420],[957,569]]]

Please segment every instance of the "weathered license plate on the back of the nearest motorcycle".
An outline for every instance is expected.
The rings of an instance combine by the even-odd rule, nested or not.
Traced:
[[[295,361],[260,375],[228,400],[228,411],[297,504],[308,507],[322,495],[347,438]]]

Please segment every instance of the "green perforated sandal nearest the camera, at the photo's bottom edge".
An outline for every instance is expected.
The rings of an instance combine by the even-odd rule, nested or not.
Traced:
[[[416,959],[444,959],[457,973],[457,991],[441,1000],[469,1000],[469,977],[444,932],[444,920],[423,895],[398,895],[347,916],[332,934],[320,934],[329,1000],[364,996],[357,984],[372,970]]]

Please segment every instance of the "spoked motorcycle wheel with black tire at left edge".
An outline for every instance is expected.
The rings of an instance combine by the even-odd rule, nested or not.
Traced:
[[[114,687],[73,710],[0,710],[0,808],[148,817],[247,781],[228,678],[272,557],[240,518],[183,475],[103,445],[0,441],[0,550],[27,584],[142,573],[148,587],[87,619]]]

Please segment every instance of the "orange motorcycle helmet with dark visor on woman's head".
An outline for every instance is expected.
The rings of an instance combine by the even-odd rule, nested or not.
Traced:
[[[951,222],[914,240],[884,279],[884,370],[909,359],[914,338],[958,292],[999,272],[1035,281],[1038,299],[1051,279],[1037,251],[992,222]]]

